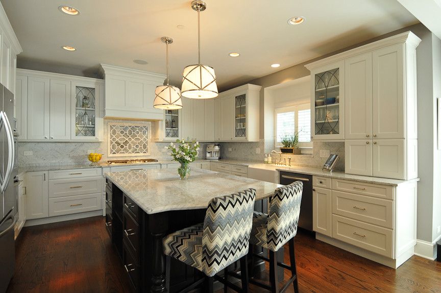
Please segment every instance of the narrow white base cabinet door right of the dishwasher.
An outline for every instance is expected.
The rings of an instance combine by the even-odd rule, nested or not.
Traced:
[[[312,230],[332,236],[331,189],[312,189]]]

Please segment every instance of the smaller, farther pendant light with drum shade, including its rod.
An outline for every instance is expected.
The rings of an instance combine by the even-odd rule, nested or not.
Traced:
[[[166,84],[159,85],[155,89],[155,101],[153,107],[166,110],[177,110],[182,108],[181,91],[179,88],[168,84],[168,44],[173,43],[173,39],[169,37],[162,37],[161,41],[166,46],[166,66],[167,79]]]

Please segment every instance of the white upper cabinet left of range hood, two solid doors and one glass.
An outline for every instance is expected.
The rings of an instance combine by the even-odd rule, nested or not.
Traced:
[[[19,140],[103,140],[102,80],[26,69],[17,72]]]

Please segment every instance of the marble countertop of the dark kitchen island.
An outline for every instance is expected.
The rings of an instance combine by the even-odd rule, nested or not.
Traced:
[[[148,214],[171,210],[205,209],[209,201],[247,188],[256,189],[256,201],[271,196],[280,184],[193,169],[180,180],[176,170],[149,169],[106,173],[119,189]]]

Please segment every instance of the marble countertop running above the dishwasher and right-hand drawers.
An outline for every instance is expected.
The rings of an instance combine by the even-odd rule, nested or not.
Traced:
[[[365,183],[391,185],[391,186],[398,186],[399,184],[402,183],[420,181],[419,178],[412,180],[397,180],[397,179],[388,179],[388,178],[379,178],[379,177],[370,177],[370,176],[361,176],[361,175],[351,175],[341,171],[333,171],[332,173],[330,173],[328,171],[322,170],[322,168],[304,167],[304,166],[278,166],[273,164],[255,164],[249,167],[284,171],[291,173],[301,173],[301,174],[337,178],[337,179],[346,179],[346,180],[353,180],[353,181],[365,182]]]

